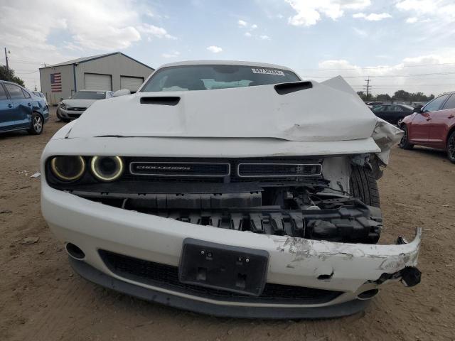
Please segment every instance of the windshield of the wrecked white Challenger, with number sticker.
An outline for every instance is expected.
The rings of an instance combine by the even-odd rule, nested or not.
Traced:
[[[229,87],[299,82],[294,72],[246,65],[185,65],[164,67],[142,87],[141,92],[215,90]]]

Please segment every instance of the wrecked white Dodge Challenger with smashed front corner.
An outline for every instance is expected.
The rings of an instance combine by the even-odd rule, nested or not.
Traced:
[[[53,136],[43,216],[77,273],[123,293],[218,316],[349,315],[386,283],[419,283],[420,230],[377,244],[376,178],[401,136],[341,77],[168,64]]]

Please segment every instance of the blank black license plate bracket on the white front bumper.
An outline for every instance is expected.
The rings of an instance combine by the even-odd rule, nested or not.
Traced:
[[[267,281],[269,254],[186,238],[178,279],[182,283],[259,296]]]

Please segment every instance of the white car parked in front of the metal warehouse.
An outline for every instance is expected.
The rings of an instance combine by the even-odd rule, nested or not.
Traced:
[[[85,110],[100,99],[114,97],[112,91],[80,90],[57,105],[57,118],[64,122],[78,119]]]

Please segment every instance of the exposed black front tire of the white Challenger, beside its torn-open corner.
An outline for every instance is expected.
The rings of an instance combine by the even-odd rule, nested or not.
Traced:
[[[350,195],[369,206],[380,207],[378,183],[373,172],[362,166],[351,166]]]

